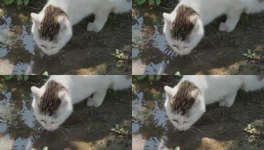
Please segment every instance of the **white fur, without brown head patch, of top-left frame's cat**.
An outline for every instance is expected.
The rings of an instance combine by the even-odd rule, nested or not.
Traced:
[[[69,19],[61,18],[59,21],[65,29],[59,31],[58,43],[42,40],[38,35],[39,23],[43,19],[45,8],[49,5],[61,8],[69,17]],[[129,11],[131,8],[132,0],[48,0],[40,13],[31,13],[34,40],[45,54],[54,55],[57,54],[71,39],[73,25],[78,23],[82,18],[90,14],[95,14],[95,20],[93,23],[87,25],[87,31],[100,32],[104,27],[110,12],[123,13]],[[40,45],[45,45],[46,48],[41,47]]]

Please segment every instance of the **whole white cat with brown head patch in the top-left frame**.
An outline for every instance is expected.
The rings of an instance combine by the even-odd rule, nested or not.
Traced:
[[[48,0],[42,11],[31,13],[32,34],[38,47],[48,56],[57,54],[73,35],[73,25],[95,14],[87,31],[100,32],[110,12],[124,13],[132,0]]]

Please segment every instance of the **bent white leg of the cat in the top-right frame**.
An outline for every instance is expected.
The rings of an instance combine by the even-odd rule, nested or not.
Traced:
[[[221,22],[219,31],[232,32],[239,21],[243,7],[233,8],[226,13],[226,22]]]

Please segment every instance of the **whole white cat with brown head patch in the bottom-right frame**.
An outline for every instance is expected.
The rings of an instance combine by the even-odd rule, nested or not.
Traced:
[[[173,88],[164,86],[165,110],[178,130],[188,130],[208,104],[231,107],[237,91],[264,87],[264,75],[185,75]]]

